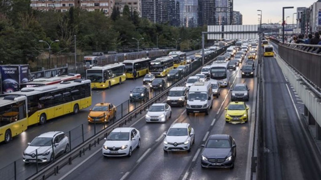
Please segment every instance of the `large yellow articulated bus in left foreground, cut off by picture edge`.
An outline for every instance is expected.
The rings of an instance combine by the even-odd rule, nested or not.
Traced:
[[[33,124],[91,106],[90,80],[76,79],[60,84],[25,87],[0,96],[0,142],[8,143]]]

